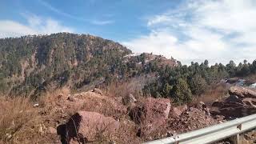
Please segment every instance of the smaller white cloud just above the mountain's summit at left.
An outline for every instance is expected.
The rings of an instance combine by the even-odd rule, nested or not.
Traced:
[[[24,14],[23,14],[24,15]],[[74,30],[52,18],[41,18],[36,15],[24,15],[27,24],[11,20],[0,20],[0,38],[19,37],[28,34],[53,34],[73,32]]]

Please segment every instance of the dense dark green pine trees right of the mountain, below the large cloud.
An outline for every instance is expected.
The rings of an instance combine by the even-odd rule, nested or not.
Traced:
[[[173,98],[174,102],[190,102],[194,96],[203,94],[211,84],[219,82],[223,78],[244,77],[256,74],[256,61],[252,64],[246,62],[235,66],[230,61],[226,66],[215,64],[208,66],[206,60],[202,64],[191,62],[190,66],[168,66],[158,70],[159,78],[144,87],[144,94],[151,94],[158,98]]]

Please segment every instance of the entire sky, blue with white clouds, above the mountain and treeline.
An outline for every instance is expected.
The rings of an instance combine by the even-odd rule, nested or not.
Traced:
[[[0,0],[0,38],[93,34],[182,63],[253,61],[254,0]]]

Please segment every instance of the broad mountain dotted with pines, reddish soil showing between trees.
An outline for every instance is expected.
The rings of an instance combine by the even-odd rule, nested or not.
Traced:
[[[175,66],[174,59],[133,55],[117,42],[88,34],[59,33],[0,39],[0,92],[37,95],[72,90]]]

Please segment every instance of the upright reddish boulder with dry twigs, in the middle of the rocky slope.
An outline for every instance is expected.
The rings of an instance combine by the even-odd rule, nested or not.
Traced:
[[[166,98],[146,98],[140,106],[130,110],[130,117],[141,127],[138,136],[146,138],[158,134],[170,113],[170,100]]]

